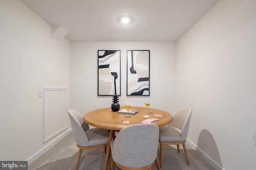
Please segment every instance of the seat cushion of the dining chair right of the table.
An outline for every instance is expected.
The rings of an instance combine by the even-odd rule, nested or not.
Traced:
[[[172,126],[159,128],[159,141],[181,141],[181,130]]]

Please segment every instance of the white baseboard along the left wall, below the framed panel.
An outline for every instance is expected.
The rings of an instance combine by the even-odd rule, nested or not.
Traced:
[[[68,135],[68,133],[72,132],[72,129],[68,129],[67,131],[65,131],[64,133],[62,133],[61,135],[59,135],[58,137],[56,137],[56,139],[54,139],[53,141],[51,141],[50,143],[48,143],[45,147],[43,147],[42,149],[40,149],[38,152],[36,152],[35,154],[33,154],[32,156],[30,156],[30,158],[28,158],[26,161],[28,161],[28,164],[30,164],[31,162],[33,162],[34,160],[36,160],[37,158],[39,158],[42,154],[44,154],[48,149],[50,149],[50,147],[54,146],[56,143],[58,143],[58,141],[60,141],[61,139],[63,139],[64,137],[66,137],[66,135]]]

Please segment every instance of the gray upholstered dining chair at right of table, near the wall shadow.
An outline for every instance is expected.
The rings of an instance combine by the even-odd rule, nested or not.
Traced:
[[[170,124],[159,128],[160,167],[161,168],[163,163],[163,151],[164,151],[165,144],[177,145],[179,153],[180,153],[179,145],[182,144],[186,158],[187,158],[188,165],[190,165],[185,142],[188,136],[188,128],[190,124],[191,114],[192,114],[192,108],[181,107],[174,113],[173,121]]]

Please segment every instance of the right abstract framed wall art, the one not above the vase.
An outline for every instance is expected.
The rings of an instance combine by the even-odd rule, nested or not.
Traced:
[[[150,51],[127,50],[127,96],[150,96]]]

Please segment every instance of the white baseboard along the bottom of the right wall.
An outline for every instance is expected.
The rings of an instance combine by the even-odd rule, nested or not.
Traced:
[[[222,168],[222,166],[220,166],[217,162],[215,162],[210,156],[208,156],[204,151],[202,151],[200,148],[198,148],[196,146],[196,144],[194,144],[192,141],[190,141],[188,138],[186,139],[186,143],[188,143],[188,145],[190,145],[190,147],[192,147],[194,150],[197,150],[198,153],[203,156],[206,161],[211,164],[212,166],[214,166],[214,168],[216,170],[225,170],[224,168]]]

